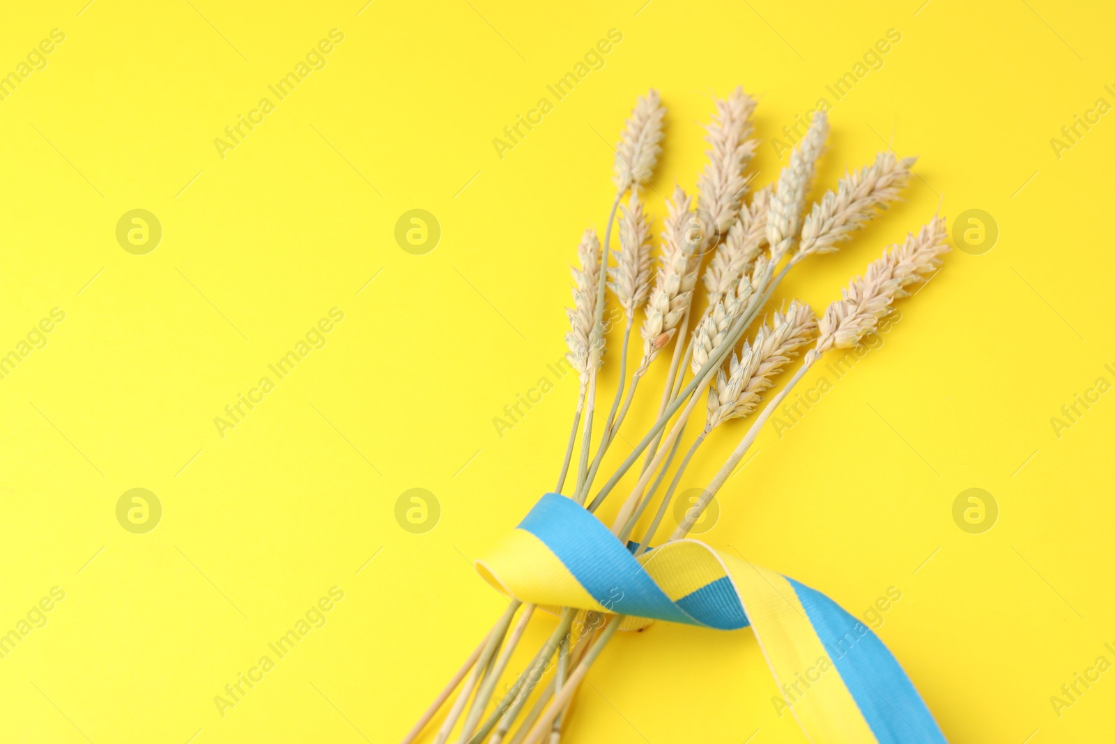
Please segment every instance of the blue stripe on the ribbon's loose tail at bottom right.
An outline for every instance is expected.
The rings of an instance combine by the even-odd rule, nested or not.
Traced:
[[[902,667],[865,625],[820,591],[786,577],[879,744],[946,744]]]

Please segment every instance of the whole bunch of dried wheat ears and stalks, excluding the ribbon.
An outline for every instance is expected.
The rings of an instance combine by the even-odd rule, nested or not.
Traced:
[[[756,141],[750,138],[754,110],[755,99],[741,88],[716,102],[716,113],[707,126],[708,165],[697,180],[696,204],[691,195],[675,187],[666,205],[661,255],[657,269],[652,269],[650,219],[640,189],[649,184],[661,152],[666,109],[655,90],[639,98],[615,151],[615,200],[603,242],[593,230],[588,230],[578,247],[580,268],[573,269],[574,303],[568,311],[571,328],[565,340],[569,357],[580,375],[580,393],[554,491],[595,511],[642,457],[641,476],[620,506],[612,528],[618,539],[627,541],[661,491],[678,454],[682,431],[701,400],[706,402],[705,410],[698,413],[705,417],[704,426],[661,491],[657,513],[634,547],[636,557],[653,541],[681,474],[712,429],[755,413],[779,373],[808,347],[797,371],[755,417],[701,497],[686,511],[670,540],[685,538],[701,518],[764,422],[809,367],[828,349],[854,347],[873,332],[891,312],[894,301],[906,296],[912,284],[932,274],[940,265],[939,257],[948,250],[944,220],[934,216],[901,244],[883,250],[864,276],[852,279],[842,292],[843,298],[832,302],[820,317],[795,300],[775,312],[749,340],[744,340],[786,273],[812,255],[836,251],[878,210],[898,197],[913,165],[912,158],[880,153],[873,164],[841,178],[836,190],[826,193],[806,213],[806,193],[828,134],[826,117],[817,114],[777,183],[756,192],[748,202],[746,172],[756,147]],[[610,245],[617,213],[619,251],[613,263]],[[707,301],[697,317],[694,294],[705,263],[701,279]],[[624,327],[618,389],[603,425],[598,422],[595,427],[598,441],[593,453],[593,417],[604,360],[605,289],[611,290],[622,309]],[[642,351],[628,378],[628,346],[640,310]],[[691,322],[691,317],[698,318],[696,322]],[[598,470],[630,409],[639,381],[659,358],[665,364],[667,356],[669,368],[653,425],[590,501]],[[576,475],[572,487],[565,490],[579,432]],[[558,743],[579,684],[623,617],[564,608],[556,628],[517,679],[505,694],[494,695],[534,609],[533,605],[511,601],[404,744],[421,734],[458,687],[460,690],[445,714],[436,744],[445,744],[450,736],[455,736],[457,744],[484,741],[536,744],[546,738],[550,744]],[[547,675],[549,683],[534,695]],[[532,696],[534,703],[524,715]]]

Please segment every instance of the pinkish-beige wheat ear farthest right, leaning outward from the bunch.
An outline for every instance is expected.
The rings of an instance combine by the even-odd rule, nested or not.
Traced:
[[[910,233],[901,245],[884,249],[882,258],[872,261],[862,278],[849,282],[844,299],[830,305],[821,317],[821,336],[814,349],[817,355],[834,346],[851,348],[875,330],[894,300],[905,297],[910,284],[924,281],[948,250],[943,218],[934,218],[917,235]]]

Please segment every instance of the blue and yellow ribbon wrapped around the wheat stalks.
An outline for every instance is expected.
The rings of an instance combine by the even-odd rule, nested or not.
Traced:
[[[588,510],[547,493],[476,568],[524,602],[628,616],[623,630],[653,620],[749,626],[783,693],[775,706],[814,744],[946,742],[870,628],[821,592],[700,541],[637,559]]]

